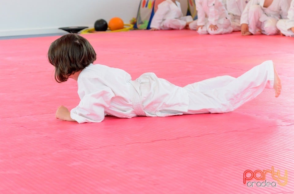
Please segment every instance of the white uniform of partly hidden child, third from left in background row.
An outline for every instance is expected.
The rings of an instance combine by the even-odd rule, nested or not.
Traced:
[[[240,18],[249,0],[224,0],[233,31],[241,31]]]

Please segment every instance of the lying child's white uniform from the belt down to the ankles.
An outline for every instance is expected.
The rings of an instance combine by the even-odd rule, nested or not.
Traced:
[[[264,88],[273,88],[274,67],[272,61],[265,61],[237,78],[220,76],[185,87],[175,86],[154,73],[142,74],[130,83],[138,116],[226,113],[254,99]]]

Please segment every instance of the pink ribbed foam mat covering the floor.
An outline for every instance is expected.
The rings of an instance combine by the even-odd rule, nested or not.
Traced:
[[[55,119],[57,107],[74,108],[79,98],[77,83],[56,83],[47,61],[58,37],[0,40],[0,193],[294,193],[294,38],[189,30],[83,36],[95,63],[179,86],[273,60],[282,93],[265,89],[224,114],[65,122]],[[244,171],[272,167],[281,176],[287,170],[285,186],[243,183]],[[277,182],[270,173],[266,181]]]

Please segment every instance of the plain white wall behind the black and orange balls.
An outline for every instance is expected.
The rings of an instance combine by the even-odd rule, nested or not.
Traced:
[[[98,19],[129,23],[140,0],[0,0],[0,36],[60,33],[59,27],[93,27]]]

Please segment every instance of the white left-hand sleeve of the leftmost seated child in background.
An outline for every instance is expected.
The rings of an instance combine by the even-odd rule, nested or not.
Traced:
[[[160,30],[161,23],[164,20],[164,16],[169,11],[169,4],[168,2],[164,1],[158,5],[157,11],[154,13],[154,16],[151,20],[150,28],[156,28]]]

